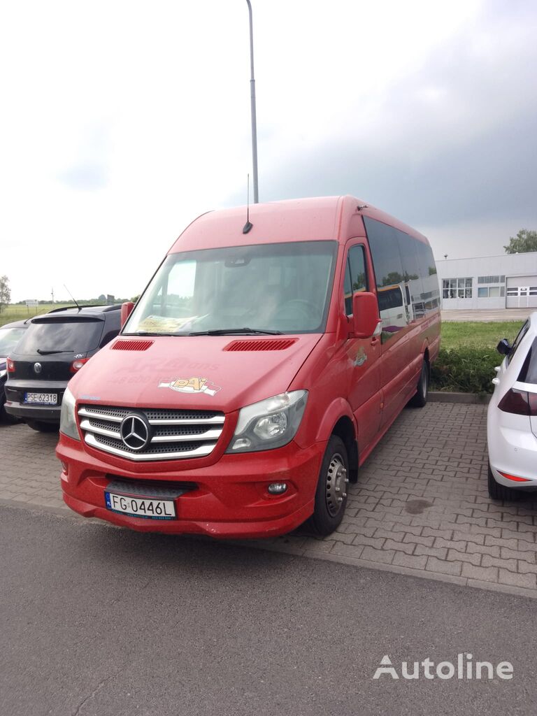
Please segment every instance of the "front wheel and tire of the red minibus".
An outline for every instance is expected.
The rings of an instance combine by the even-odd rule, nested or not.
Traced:
[[[319,536],[332,534],[342,522],[347,507],[349,458],[341,437],[332,435],[326,445],[315,493],[310,524]]]

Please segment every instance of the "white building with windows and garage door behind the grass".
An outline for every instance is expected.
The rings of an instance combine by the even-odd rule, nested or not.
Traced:
[[[443,309],[537,308],[537,251],[436,261]]]

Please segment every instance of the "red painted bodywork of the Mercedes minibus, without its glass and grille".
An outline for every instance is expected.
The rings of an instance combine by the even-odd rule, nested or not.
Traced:
[[[364,216],[428,246],[420,233],[349,196],[253,205],[253,228],[248,233],[243,233],[244,207],[206,213],[193,221],[169,255],[256,244],[337,242],[324,330],[281,336],[150,335],[144,337],[141,349],[122,349],[122,342],[129,339],[120,335],[69,382],[80,439],[60,432],[57,445],[67,505],[84,516],[140,531],[222,538],[275,536],[309,518],[331,435],[344,435],[355,468],[361,465],[415,395],[423,362],[430,365],[440,344],[440,310],[435,296],[428,298],[425,293],[423,307],[419,302],[407,306],[406,318],[393,334],[353,337],[353,319],[345,302],[353,247],[363,247],[358,251],[363,251],[366,290],[377,292],[378,283]],[[394,294],[397,290],[396,286]],[[303,390],[306,407],[290,442],[271,450],[228,452],[241,409]],[[125,409],[200,411],[200,415],[208,411],[207,415],[221,415],[223,422],[208,455],[174,459],[156,455],[137,461],[87,441],[83,417],[78,415],[84,406],[89,412],[104,407],[112,413],[117,410],[121,416],[114,418],[117,425]],[[114,480],[131,488],[141,486],[147,499],[152,485],[153,490],[166,485],[187,485],[188,490],[174,498],[174,519],[156,520],[107,508],[105,492]],[[271,483],[286,483],[285,493],[269,493]]]

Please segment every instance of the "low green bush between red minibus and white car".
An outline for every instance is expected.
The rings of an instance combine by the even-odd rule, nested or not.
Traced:
[[[494,390],[494,367],[502,360],[503,357],[491,348],[442,348],[431,367],[431,390],[491,393]]]

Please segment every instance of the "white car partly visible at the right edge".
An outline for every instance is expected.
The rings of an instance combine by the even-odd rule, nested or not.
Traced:
[[[537,312],[531,314],[510,346],[493,379],[488,405],[488,493],[513,500],[537,489]]]

